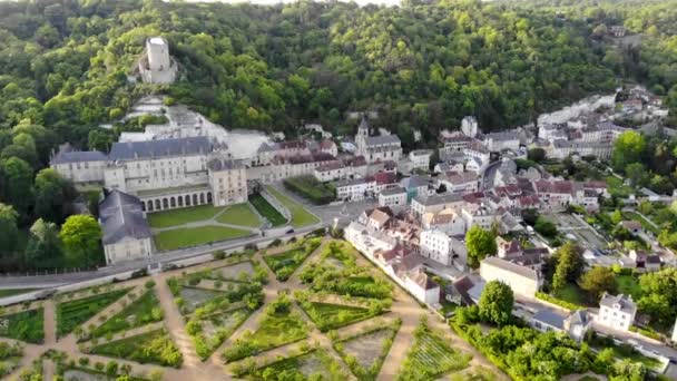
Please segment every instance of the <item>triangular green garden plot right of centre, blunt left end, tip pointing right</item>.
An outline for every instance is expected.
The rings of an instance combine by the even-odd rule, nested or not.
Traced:
[[[351,305],[307,302],[303,303],[302,306],[322,332],[340,329],[374,316],[369,309]]]

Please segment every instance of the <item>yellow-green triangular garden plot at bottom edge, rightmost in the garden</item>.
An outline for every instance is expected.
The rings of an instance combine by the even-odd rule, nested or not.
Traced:
[[[415,336],[399,380],[410,380],[412,374],[436,379],[451,371],[465,369],[472,359],[472,355],[454,350],[447,340],[426,328],[421,330],[420,326]]]

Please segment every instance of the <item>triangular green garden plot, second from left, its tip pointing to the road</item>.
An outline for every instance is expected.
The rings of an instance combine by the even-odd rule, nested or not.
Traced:
[[[72,332],[76,326],[87,322],[128,291],[129,289],[121,289],[57,304],[57,335],[62,338]]]

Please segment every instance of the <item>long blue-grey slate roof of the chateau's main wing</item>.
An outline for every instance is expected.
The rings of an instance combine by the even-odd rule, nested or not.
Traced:
[[[176,139],[115,143],[108,156],[111,160],[134,160],[137,158],[208,154],[210,150],[212,144],[208,137],[193,136]]]

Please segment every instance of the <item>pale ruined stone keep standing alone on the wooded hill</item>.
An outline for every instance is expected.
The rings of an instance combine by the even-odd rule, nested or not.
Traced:
[[[146,40],[138,70],[146,84],[171,84],[176,80],[177,65],[169,56],[169,43],[165,38],[150,37]]]

